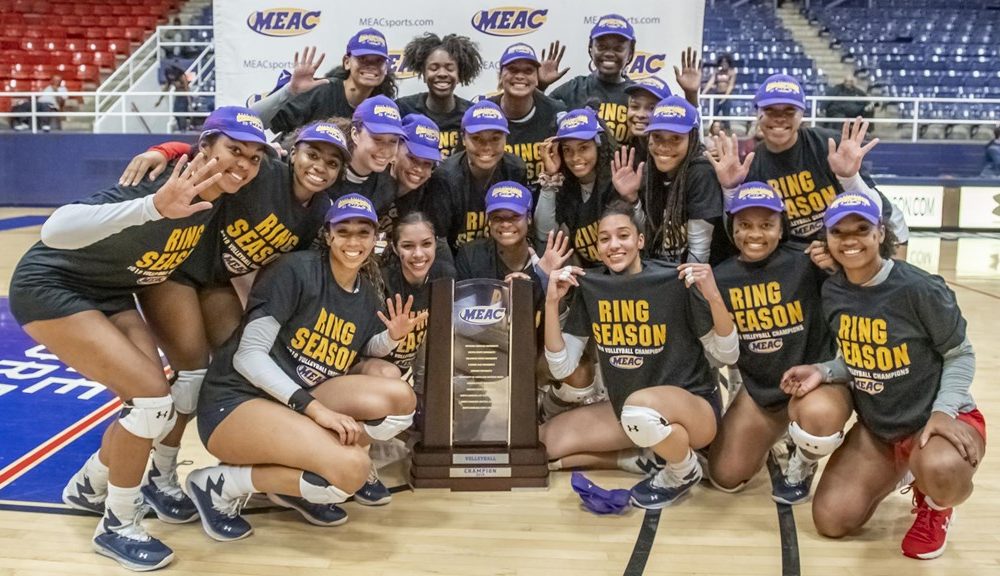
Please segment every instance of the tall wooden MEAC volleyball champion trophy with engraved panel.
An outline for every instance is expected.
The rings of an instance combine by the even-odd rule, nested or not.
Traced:
[[[431,284],[424,431],[413,448],[416,488],[545,487],[538,442],[531,283]]]

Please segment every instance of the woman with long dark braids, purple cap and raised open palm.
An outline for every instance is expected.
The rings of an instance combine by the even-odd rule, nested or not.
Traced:
[[[661,100],[646,127],[646,161],[633,166],[635,152],[625,148],[615,155],[615,188],[641,201],[653,257],[714,264],[732,248],[722,228],[722,188],[698,130],[694,106],[678,96]]]

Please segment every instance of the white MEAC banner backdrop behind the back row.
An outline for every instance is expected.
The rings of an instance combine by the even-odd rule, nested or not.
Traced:
[[[513,4],[513,3],[511,3]],[[627,72],[637,79],[657,75],[678,92],[673,66],[681,51],[700,52],[704,0],[561,0],[513,6],[502,2],[474,4],[446,0],[215,0],[217,104],[243,105],[255,94],[269,92],[282,70],[292,70],[296,51],[318,46],[326,53],[320,74],[338,66],[348,39],[361,28],[385,34],[399,80],[399,96],[426,91],[412,70],[400,69],[403,47],[416,36],[460,34],[479,45],[484,70],[475,83],[460,86],[467,99],[496,91],[497,60],[515,42],[531,44],[539,57],[549,43],[566,46],[564,77],[587,74],[590,29],[607,13],[621,14],[635,28],[635,58]]]

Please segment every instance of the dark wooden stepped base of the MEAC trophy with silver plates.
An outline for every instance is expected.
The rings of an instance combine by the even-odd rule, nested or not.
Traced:
[[[413,447],[410,484],[414,488],[450,488],[453,491],[503,491],[546,488],[549,467],[545,447],[506,446]]]

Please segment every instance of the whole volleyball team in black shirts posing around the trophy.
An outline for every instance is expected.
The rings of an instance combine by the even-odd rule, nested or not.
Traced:
[[[800,83],[775,75],[741,158],[735,136],[703,141],[696,54],[672,95],[625,76],[635,40],[600,18],[578,43],[593,72],[568,81],[558,42],[512,44],[473,103],[456,90],[483,55],[428,33],[404,51],[427,90],[394,100],[364,29],[326,76],[306,49],[195,145],[142,152],[56,210],[10,306],[122,400],[63,492],[101,516],[94,549],[169,564],[150,507],[229,541],[252,533],[254,493],[318,526],[352,496],[388,504],[369,448],[419,437],[429,283],[453,277],[531,282],[539,420],[512,425],[540,426],[551,469],[634,472],[632,504],[660,508],[702,480],[740,490],[787,443],[773,498],[811,499],[820,534],[851,535],[902,488],[903,554],[939,556],[985,450],[975,355],[944,280],[894,258],[907,231],[862,169],[867,122],[803,126]],[[220,464],[182,487],[196,416]]]

